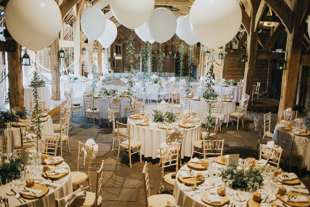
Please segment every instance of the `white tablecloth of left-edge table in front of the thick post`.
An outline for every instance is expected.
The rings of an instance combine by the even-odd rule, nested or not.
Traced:
[[[53,121],[51,116],[47,116],[49,118],[46,122],[41,123],[42,125],[42,134],[52,134],[54,133],[53,129]],[[14,149],[15,145],[20,144],[20,128],[12,127],[11,129],[0,129],[0,137],[7,136],[7,152],[10,153]]]

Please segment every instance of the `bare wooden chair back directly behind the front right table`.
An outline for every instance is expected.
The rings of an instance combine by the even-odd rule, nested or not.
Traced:
[[[203,155],[207,157],[207,155],[218,155],[223,156],[224,149],[224,139],[223,140],[208,140],[205,139],[202,141],[203,146]]]

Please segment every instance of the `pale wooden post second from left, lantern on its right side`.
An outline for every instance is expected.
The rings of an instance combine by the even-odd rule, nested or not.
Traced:
[[[56,37],[50,47],[50,60],[51,60],[51,99],[60,99],[60,69],[59,69],[59,36]],[[64,61],[64,60],[63,60]]]

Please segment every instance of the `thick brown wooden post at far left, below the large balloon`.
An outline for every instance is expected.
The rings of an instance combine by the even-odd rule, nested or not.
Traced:
[[[24,107],[24,86],[23,71],[21,66],[21,45],[15,40],[8,40],[7,45],[13,44],[16,47],[15,52],[7,53],[7,69],[9,79],[10,108],[18,107],[21,110]]]

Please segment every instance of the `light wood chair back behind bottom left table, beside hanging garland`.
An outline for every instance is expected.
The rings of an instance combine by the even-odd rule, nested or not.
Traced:
[[[37,152],[45,155],[56,156],[58,146],[58,136],[51,134],[41,134],[41,141],[38,140]]]

